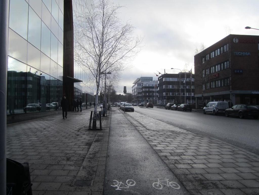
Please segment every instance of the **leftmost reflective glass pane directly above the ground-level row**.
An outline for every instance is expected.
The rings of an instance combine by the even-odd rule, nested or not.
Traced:
[[[9,29],[8,55],[27,63],[27,41]]]

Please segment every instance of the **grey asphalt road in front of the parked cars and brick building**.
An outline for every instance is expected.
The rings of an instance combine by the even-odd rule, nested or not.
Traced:
[[[259,154],[259,119],[204,115],[202,112],[182,112],[156,107],[134,108],[135,112],[148,117]]]

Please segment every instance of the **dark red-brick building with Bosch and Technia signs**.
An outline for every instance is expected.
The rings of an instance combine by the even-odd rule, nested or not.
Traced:
[[[194,56],[196,107],[259,104],[259,36],[228,35]]]

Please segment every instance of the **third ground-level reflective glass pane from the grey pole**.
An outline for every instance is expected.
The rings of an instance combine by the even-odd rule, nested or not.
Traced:
[[[50,76],[44,72],[40,75],[40,103],[41,110],[46,111],[46,104],[50,103],[49,100],[49,88],[50,88]]]

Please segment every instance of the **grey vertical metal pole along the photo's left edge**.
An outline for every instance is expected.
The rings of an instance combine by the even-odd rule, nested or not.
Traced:
[[[0,194],[6,194],[6,96],[9,0],[0,1]]]

